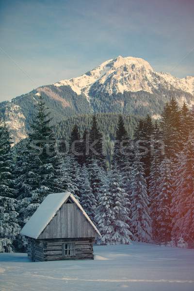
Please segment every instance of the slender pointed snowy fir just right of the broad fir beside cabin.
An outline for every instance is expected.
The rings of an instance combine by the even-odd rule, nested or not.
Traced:
[[[143,162],[140,153],[135,150],[135,159],[131,169],[131,198],[130,198],[130,231],[132,240],[139,242],[152,242],[152,226],[149,200],[147,195],[146,179],[144,178]]]

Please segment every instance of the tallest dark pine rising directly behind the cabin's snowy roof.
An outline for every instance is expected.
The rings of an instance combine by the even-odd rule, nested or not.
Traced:
[[[51,119],[41,96],[35,106],[32,132],[17,156],[21,222],[26,223],[49,193],[64,191],[60,184],[60,157],[55,152]]]

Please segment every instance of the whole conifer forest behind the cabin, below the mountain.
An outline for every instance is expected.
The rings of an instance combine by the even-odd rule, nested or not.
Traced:
[[[0,252],[25,252],[21,228],[48,194],[66,191],[97,226],[97,244],[194,248],[194,112],[173,97],[158,121],[115,114],[110,134],[102,117],[110,122],[75,118],[59,134],[39,96],[28,138],[16,146],[1,122]]]

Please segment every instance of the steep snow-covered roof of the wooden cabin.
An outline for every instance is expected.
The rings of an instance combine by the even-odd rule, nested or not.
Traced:
[[[89,216],[82,209],[80,203],[70,192],[49,194],[40,204],[38,209],[33,213],[32,217],[29,219],[26,225],[22,228],[20,234],[37,239],[45,227],[52,220],[56,212],[61,208],[61,206],[69,197],[77,204],[83,215],[100,236],[97,227],[93,224]]]

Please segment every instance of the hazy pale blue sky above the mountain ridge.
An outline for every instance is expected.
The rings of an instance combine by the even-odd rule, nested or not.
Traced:
[[[194,0],[0,0],[0,101],[121,55],[194,75]]]

